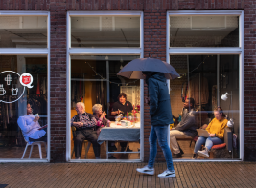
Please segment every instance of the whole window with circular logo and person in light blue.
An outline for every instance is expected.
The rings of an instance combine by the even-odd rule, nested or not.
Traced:
[[[45,11],[0,11],[0,161],[49,161],[48,23]]]

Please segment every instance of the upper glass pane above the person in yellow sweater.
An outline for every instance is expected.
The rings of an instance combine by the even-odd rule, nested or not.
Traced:
[[[238,46],[238,16],[170,16],[170,47]]]

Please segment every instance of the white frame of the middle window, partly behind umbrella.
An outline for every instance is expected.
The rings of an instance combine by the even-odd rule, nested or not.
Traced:
[[[140,47],[106,47],[106,48],[71,48],[71,17],[72,16],[140,16]],[[144,37],[143,37],[143,11],[67,11],[67,118],[66,118],[66,161],[68,162],[140,162],[144,160],[144,81],[140,80],[140,114],[141,114],[141,127],[140,127],[140,159],[71,159],[71,55],[139,55],[140,58],[144,56]]]

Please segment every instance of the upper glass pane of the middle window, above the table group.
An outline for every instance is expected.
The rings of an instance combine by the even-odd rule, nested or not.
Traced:
[[[140,17],[71,17],[71,47],[140,47]]]

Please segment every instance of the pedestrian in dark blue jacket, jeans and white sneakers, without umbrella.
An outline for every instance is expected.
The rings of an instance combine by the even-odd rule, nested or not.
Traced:
[[[151,134],[150,141],[150,159],[148,165],[143,168],[137,168],[139,173],[148,175],[154,174],[154,160],[157,153],[156,140],[164,153],[167,170],[159,174],[159,178],[175,177],[172,153],[167,142],[169,124],[173,122],[171,110],[170,95],[164,73],[142,72],[148,85],[149,97],[145,97],[145,102],[150,104],[151,115]]]

